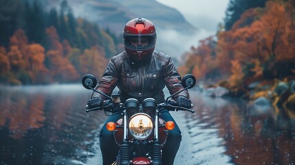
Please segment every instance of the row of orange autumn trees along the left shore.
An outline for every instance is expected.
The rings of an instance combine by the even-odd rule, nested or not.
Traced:
[[[10,38],[10,48],[0,47],[1,83],[21,85],[73,82],[90,72],[97,77],[105,72],[107,59],[100,45],[85,49],[72,48],[67,40],[60,42],[56,29],[46,29],[47,52],[37,43],[28,43],[23,30]],[[78,70],[78,72],[77,72]]]

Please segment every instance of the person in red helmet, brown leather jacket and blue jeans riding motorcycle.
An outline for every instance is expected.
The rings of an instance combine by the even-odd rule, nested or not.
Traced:
[[[117,86],[122,102],[128,98],[136,98],[140,102],[145,98],[155,98],[157,104],[165,102],[162,91],[165,85],[170,94],[182,90],[181,77],[171,57],[155,51],[156,40],[155,26],[151,21],[143,18],[129,21],[123,30],[125,51],[111,58],[96,90],[111,96]],[[89,108],[99,107],[105,99],[105,96],[94,92],[87,104]],[[174,99],[178,106],[190,107],[188,91],[180,92]],[[120,118],[120,113],[113,113],[105,124]],[[175,122],[168,111],[163,111],[160,118]],[[181,131],[175,122],[175,129],[169,131],[166,145],[162,148],[162,164],[173,164],[181,140]],[[113,133],[105,125],[100,131],[100,150],[104,165],[111,164],[118,155]]]

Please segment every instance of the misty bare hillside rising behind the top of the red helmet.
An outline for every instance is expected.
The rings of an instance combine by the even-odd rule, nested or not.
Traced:
[[[34,1],[34,0],[31,0]],[[48,10],[58,8],[62,0],[43,0]],[[100,27],[109,28],[118,34],[125,23],[135,17],[151,20],[156,28],[177,30],[178,32],[195,32],[182,14],[155,0],[70,0],[67,3],[76,17],[94,21]]]

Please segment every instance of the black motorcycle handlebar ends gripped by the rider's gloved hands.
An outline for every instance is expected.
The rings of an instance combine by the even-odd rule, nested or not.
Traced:
[[[115,111],[120,111],[124,109],[124,104],[122,103],[116,104],[111,102],[111,100],[105,100],[101,107],[95,107],[93,109],[89,109],[89,106],[86,105],[85,108],[87,113],[89,111],[98,111],[98,110],[115,112]],[[194,110],[191,110],[191,108],[193,108],[193,104],[191,104],[190,109],[187,109],[185,107],[177,106],[177,103],[175,100],[168,100],[168,102],[157,104],[157,108],[160,109],[160,111],[166,109],[168,111],[190,111],[191,113],[195,113]]]

